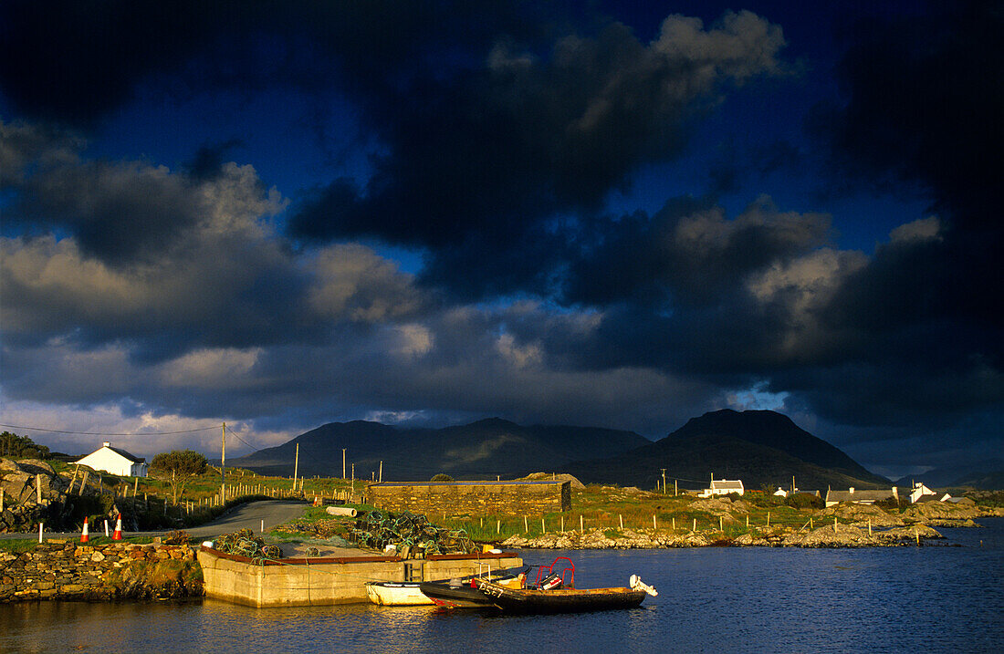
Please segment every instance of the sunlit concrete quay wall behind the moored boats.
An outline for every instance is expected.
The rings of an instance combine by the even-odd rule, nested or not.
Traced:
[[[203,547],[198,553],[206,597],[253,607],[364,604],[369,581],[433,581],[498,568],[516,568],[514,554],[442,556],[429,559],[358,557],[283,559],[262,565]]]

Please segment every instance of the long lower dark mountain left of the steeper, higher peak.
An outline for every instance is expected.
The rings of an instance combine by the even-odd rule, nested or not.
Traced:
[[[397,427],[355,420],[331,422],[276,447],[227,462],[265,474],[291,475],[299,444],[299,473],[341,475],[341,449],[346,473],[355,463],[356,478],[379,473],[399,481],[425,481],[439,472],[457,479],[512,478],[540,470],[556,470],[580,458],[613,456],[649,439],[634,431],[573,426],[521,426],[500,418],[460,426]]]

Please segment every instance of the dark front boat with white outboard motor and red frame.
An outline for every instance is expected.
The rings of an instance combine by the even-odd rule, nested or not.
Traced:
[[[555,571],[561,561],[568,566]],[[630,609],[642,604],[646,595],[659,595],[655,588],[632,575],[629,587],[574,588],[575,566],[566,557],[558,557],[550,566],[537,571],[534,584],[510,588],[489,580],[475,579],[473,584],[503,613],[579,613]]]

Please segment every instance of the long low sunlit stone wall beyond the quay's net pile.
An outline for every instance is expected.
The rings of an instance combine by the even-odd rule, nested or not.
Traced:
[[[571,509],[571,482],[452,481],[370,483],[366,503],[391,512],[542,516]]]

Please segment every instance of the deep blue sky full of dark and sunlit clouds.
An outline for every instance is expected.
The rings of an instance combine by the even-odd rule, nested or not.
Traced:
[[[352,419],[659,438],[769,408],[894,477],[985,464],[1002,27],[992,2],[5,2],[0,423],[150,456],[226,422],[239,455]]]

